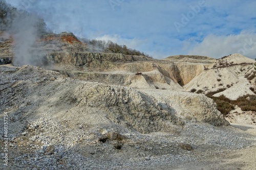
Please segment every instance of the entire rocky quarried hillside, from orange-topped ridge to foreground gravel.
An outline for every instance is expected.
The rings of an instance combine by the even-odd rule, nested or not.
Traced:
[[[8,115],[10,169],[175,169],[256,144],[204,95],[255,95],[254,61],[242,55],[157,60],[92,49],[62,33],[37,39],[34,65],[13,65],[15,40],[2,37],[0,123]]]

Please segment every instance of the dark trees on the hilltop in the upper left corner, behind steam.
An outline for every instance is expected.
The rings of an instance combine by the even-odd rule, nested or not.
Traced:
[[[0,0],[0,31],[7,31],[12,28],[12,26],[17,21],[22,21],[24,18],[35,15],[31,14],[26,10],[19,10],[10,4],[8,4],[5,0]],[[34,27],[37,30],[38,34],[48,33],[45,20],[35,16]]]

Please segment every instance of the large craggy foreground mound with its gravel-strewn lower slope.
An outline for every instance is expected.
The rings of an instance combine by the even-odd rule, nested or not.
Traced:
[[[146,166],[149,160],[177,166],[197,159],[193,148],[215,154],[219,134],[226,136],[218,139],[224,148],[252,142],[232,128],[215,128],[229,123],[201,94],[80,81],[29,65],[1,65],[0,70],[12,169],[122,168],[141,161]]]

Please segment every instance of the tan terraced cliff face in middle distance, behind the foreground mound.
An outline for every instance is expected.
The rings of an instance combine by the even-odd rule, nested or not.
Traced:
[[[102,72],[104,75],[108,74],[106,82],[111,81],[109,77],[113,76],[110,75],[116,75],[124,79],[122,82],[125,84],[122,85],[137,88],[178,89],[176,86],[181,88],[212,65],[210,63],[212,60],[207,60],[207,62],[196,60],[198,63],[196,61],[188,63],[114,53],[51,53],[46,54],[45,57],[48,64],[66,65],[65,68],[67,65],[72,65],[79,69],[77,73],[74,69],[66,70],[70,72],[69,75],[80,76],[85,80],[92,80],[95,76],[95,80],[100,81],[98,78],[104,77],[99,76]],[[97,72],[97,74],[86,74],[83,69]],[[143,78],[138,79],[138,76],[135,76],[137,72],[141,72]],[[87,77],[87,75],[90,76]],[[120,85],[120,83],[117,84]]]

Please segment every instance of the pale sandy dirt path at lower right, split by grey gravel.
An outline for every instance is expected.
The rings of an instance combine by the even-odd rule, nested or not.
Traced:
[[[256,112],[242,112],[238,108],[233,113],[227,115],[226,119],[230,122],[230,125],[241,129],[245,133],[249,133],[255,136],[256,140],[256,124],[255,122]],[[202,162],[191,162],[186,165],[181,165],[177,168],[181,169],[202,169],[202,170],[255,170],[256,169],[256,146],[236,150],[229,153],[224,153],[221,157],[213,157],[208,160],[202,160]]]

